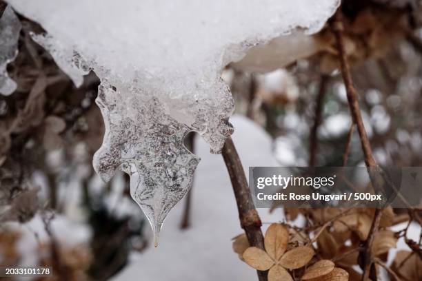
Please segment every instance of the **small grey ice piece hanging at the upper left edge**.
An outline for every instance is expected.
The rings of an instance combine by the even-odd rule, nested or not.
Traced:
[[[6,66],[17,55],[17,42],[21,22],[12,8],[7,7],[0,19],[0,94],[8,96],[16,90],[16,83],[9,78]]]

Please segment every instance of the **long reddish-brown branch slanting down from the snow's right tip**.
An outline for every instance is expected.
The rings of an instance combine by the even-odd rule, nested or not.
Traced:
[[[343,22],[341,19],[340,10],[337,10],[334,16],[334,21],[331,22],[331,25],[332,25],[332,30],[334,32],[334,36],[336,37],[336,45],[339,51],[341,74],[343,75],[343,81],[344,81],[346,93],[348,96],[350,112],[352,114],[353,122],[356,124],[356,127],[359,132],[359,136],[361,139],[363,155],[365,158],[365,165],[367,167],[377,167],[374,156],[372,155],[370,141],[368,139],[368,135],[366,134],[365,126],[363,125],[363,119],[361,116],[361,110],[360,110],[359,101],[358,101],[358,94],[353,85],[352,74],[350,73],[350,65],[348,63],[347,55],[345,52],[345,42],[343,38],[344,27],[343,27]],[[378,186],[379,177],[378,178],[372,177],[372,171],[370,171],[370,169],[368,169],[368,172],[370,174],[372,185],[374,185],[375,187]],[[372,220],[370,233],[368,235],[368,238],[363,243],[365,247],[365,251],[361,255],[362,261],[363,261],[362,280],[367,280],[370,275],[371,265],[372,265],[372,259],[371,259],[372,258],[372,243],[374,241],[374,236],[379,229],[381,214],[382,214],[382,210],[377,208],[375,210],[374,220]]]

